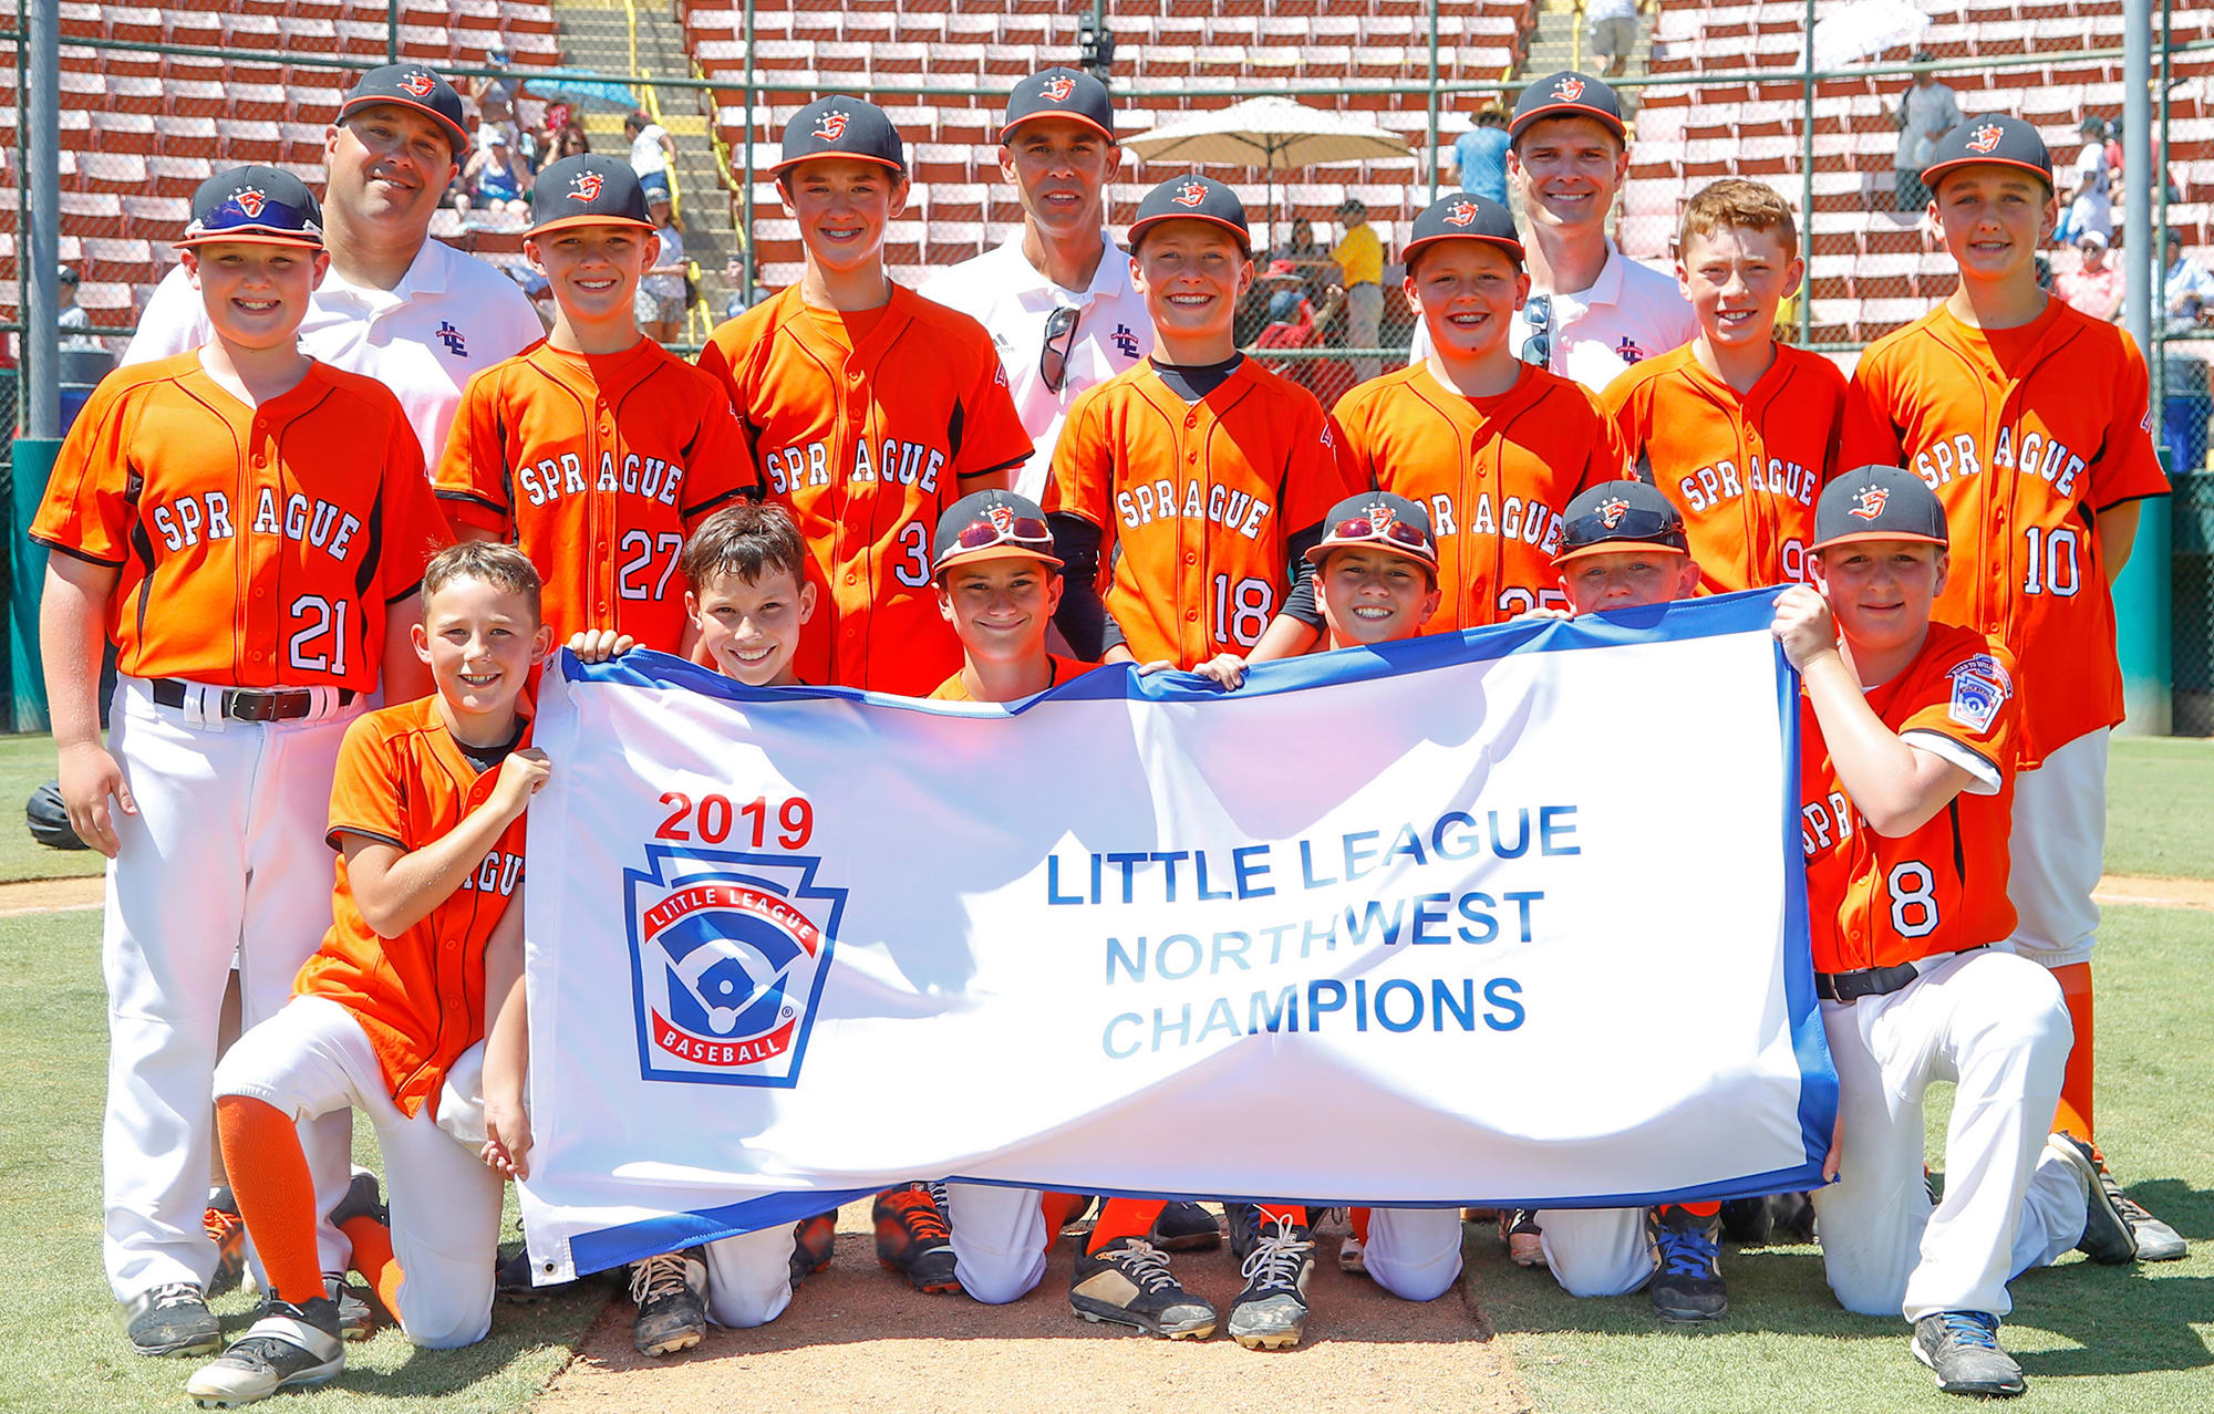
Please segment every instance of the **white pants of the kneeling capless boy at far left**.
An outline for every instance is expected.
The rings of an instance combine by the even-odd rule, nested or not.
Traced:
[[[485,1339],[507,1179],[438,1129],[430,1109],[401,1113],[352,1011],[321,996],[292,998],[230,1047],[215,1067],[215,1093],[261,1100],[292,1120],[348,1106],[368,1115],[385,1155],[401,1330],[430,1350]]]

